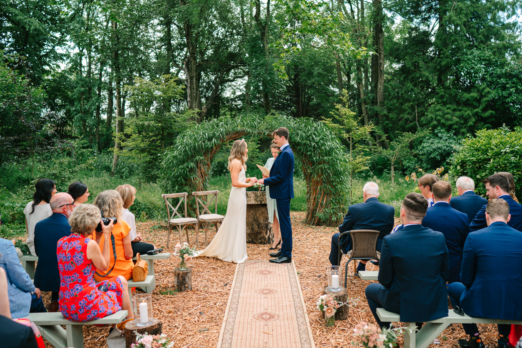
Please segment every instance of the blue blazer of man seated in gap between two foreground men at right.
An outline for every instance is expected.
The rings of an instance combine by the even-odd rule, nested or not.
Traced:
[[[437,202],[426,211],[422,225],[444,235],[449,254],[449,277],[447,281],[449,283],[460,282],[462,249],[469,234],[468,215],[453,209],[446,202]]]

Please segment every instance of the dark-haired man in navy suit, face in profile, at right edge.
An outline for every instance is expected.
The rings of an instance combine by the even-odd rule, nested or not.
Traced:
[[[509,182],[507,181],[507,178],[504,175],[497,173],[488,176],[482,182],[486,186],[486,196],[490,199],[502,198],[509,205],[511,220],[507,222],[507,225],[522,232],[522,206],[515,202],[515,200],[509,195]],[[486,206],[484,205],[480,208],[477,215],[475,215],[473,221],[471,221],[469,225],[471,232],[487,227],[485,211]]]

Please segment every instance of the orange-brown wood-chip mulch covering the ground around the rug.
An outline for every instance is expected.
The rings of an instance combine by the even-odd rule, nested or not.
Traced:
[[[292,256],[299,274],[301,291],[306,303],[315,345],[316,347],[351,347],[351,341],[355,339],[352,334],[354,326],[362,320],[375,323],[364,295],[366,286],[372,281],[349,277],[348,296],[359,299],[359,301],[357,301],[357,305],[350,308],[349,319],[336,321],[334,328],[326,328],[321,314],[316,310],[315,303],[327,285],[326,267],[330,265],[328,255],[331,235],[338,231],[333,227],[305,225],[302,222],[304,217],[304,212],[291,212]],[[139,222],[137,229],[145,242],[161,246],[165,251],[173,253],[174,246],[179,243],[179,234],[173,232],[169,249],[165,248],[167,241],[165,223]],[[215,231],[209,232],[209,241],[214,235]],[[189,237],[191,245],[193,243],[195,245],[194,233],[189,233]],[[203,235],[199,238],[200,241],[201,239],[204,241]],[[247,244],[248,259],[269,259],[268,247],[267,245]],[[203,246],[200,245],[201,248]],[[215,347],[218,343],[236,265],[207,257],[196,258],[189,265],[192,267],[192,291],[179,293],[175,291],[174,285],[174,268],[179,261],[180,259],[173,255],[170,259],[157,260],[155,263],[156,289],[152,293],[154,316],[163,322],[163,333],[173,339],[175,347]],[[368,263],[366,269],[378,270],[378,267]],[[348,271],[349,275],[353,271],[351,263]],[[496,346],[496,325],[479,325],[479,328],[484,343]],[[85,347],[106,347],[105,339],[108,333],[108,326],[85,326]],[[441,334],[440,344],[432,344],[430,347],[458,346],[459,338],[465,338],[464,330],[460,325],[453,325]],[[50,347],[49,344],[47,346]]]

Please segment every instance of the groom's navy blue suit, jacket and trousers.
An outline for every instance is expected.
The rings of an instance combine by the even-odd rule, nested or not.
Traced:
[[[270,186],[270,198],[276,200],[277,216],[281,229],[281,257],[292,257],[292,224],[290,223],[290,199],[293,198],[294,158],[290,145],[284,147],[264,181]]]

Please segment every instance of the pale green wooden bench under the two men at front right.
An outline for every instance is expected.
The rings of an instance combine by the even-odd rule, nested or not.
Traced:
[[[377,308],[377,315],[382,321],[398,322],[400,315],[392,313],[384,308]],[[422,328],[415,332],[415,330],[404,331],[404,348],[426,348],[435,338],[438,337],[452,323],[477,323],[477,324],[522,324],[522,321],[517,320],[500,320],[475,318],[468,315],[458,315],[449,309],[448,316],[440,319],[435,319],[424,323]],[[414,322],[405,322],[406,327],[415,327]],[[410,332],[412,331],[412,332]]]

